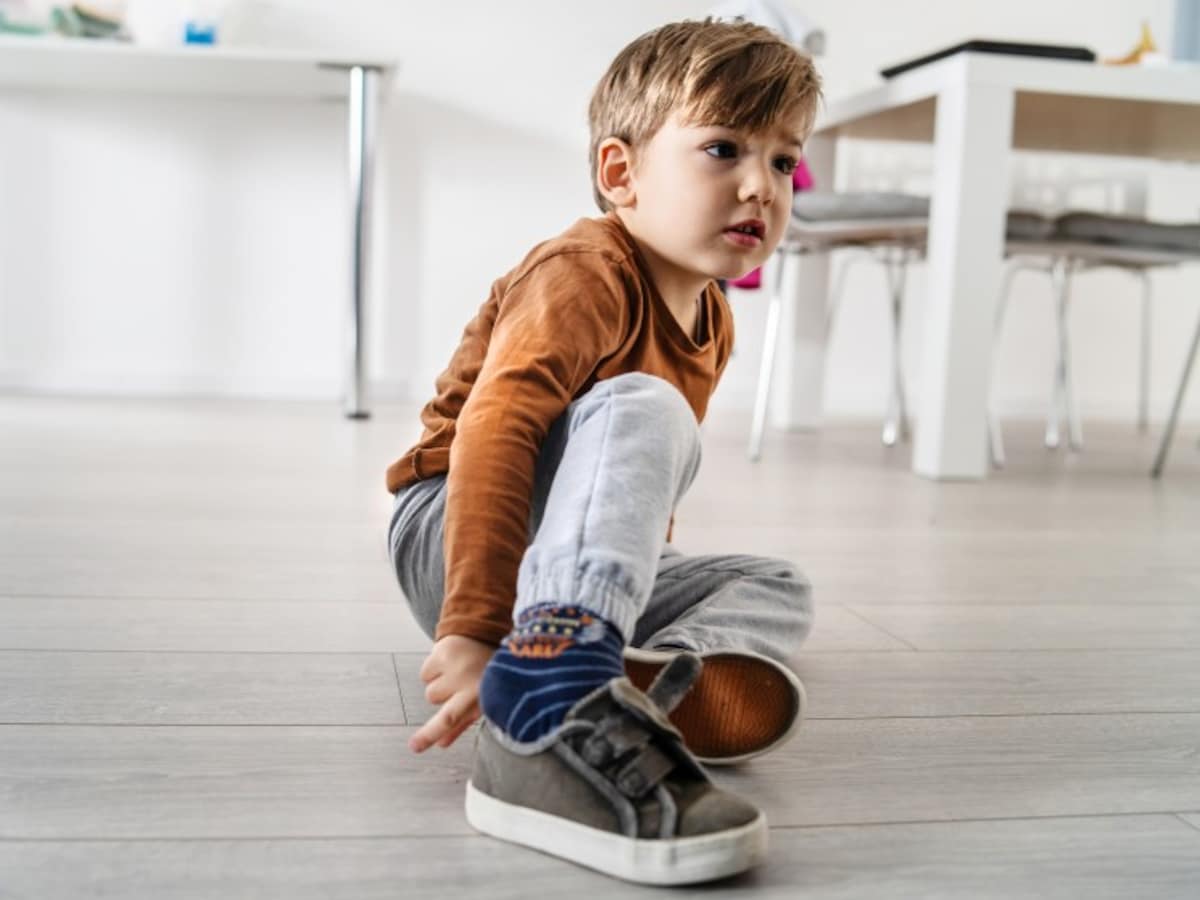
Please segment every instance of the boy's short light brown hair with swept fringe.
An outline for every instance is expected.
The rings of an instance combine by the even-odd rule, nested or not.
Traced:
[[[592,190],[596,152],[607,138],[638,146],[674,113],[688,125],[724,125],[758,132],[784,115],[812,127],[821,78],[812,60],[782,37],[748,22],[677,22],[649,31],[608,66],[588,104]]]

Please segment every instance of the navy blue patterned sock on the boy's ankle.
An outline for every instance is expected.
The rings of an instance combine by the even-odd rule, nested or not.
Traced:
[[[484,670],[479,704],[512,739],[536,740],[578,700],[625,673],[623,649],[620,632],[587,610],[534,606]]]

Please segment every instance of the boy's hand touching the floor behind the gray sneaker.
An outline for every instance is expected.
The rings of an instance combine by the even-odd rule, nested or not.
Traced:
[[[421,665],[425,698],[440,709],[408,740],[420,754],[450,746],[479,718],[479,679],[496,648],[466,635],[446,635]]]

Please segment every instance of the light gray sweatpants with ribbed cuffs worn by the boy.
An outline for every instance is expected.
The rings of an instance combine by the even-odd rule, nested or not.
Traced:
[[[514,617],[578,604],[635,647],[749,649],[790,661],[812,626],[808,581],[791,563],[684,556],[671,515],[700,467],[691,407],[661,378],[596,383],[554,422],[534,476],[530,542]],[[396,494],[389,547],[400,587],[433,636],[442,611],[445,476]]]

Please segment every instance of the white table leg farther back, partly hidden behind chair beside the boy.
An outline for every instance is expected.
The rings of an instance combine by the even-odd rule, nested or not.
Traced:
[[[838,142],[814,134],[804,148],[804,161],[822,191],[834,187]],[[829,257],[824,253],[787,253],[784,268],[782,311],[772,382],[772,422],[781,428],[816,428],[821,425],[824,390],[826,299],[829,294]]]

